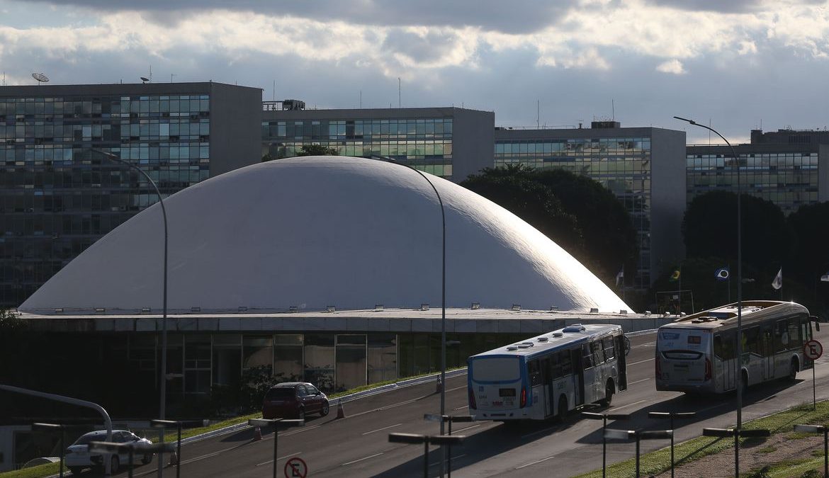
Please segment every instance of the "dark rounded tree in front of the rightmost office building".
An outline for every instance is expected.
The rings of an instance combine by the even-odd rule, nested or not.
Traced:
[[[745,194],[740,202],[743,263],[758,269],[782,263],[791,238],[783,211],[769,200]],[[737,195],[728,191],[712,191],[691,200],[682,220],[687,256],[736,263],[736,210]]]

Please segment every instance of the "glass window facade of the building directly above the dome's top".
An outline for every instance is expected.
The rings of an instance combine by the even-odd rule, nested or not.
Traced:
[[[296,156],[318,144],[341,156],[383,156],[435,176],[452,176],[452,118],[304,119],[262,122],[262,155]]]

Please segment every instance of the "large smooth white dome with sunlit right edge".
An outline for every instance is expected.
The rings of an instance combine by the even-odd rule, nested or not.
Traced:
[[[630,310],[516,215],[437,176],[446,307]],[[416,171],[354,157],[265,162],[164,200],[169,311],[416,308],[441,303],[441,214]],[[162,307],[158,204],[99,239],[20,310]]]

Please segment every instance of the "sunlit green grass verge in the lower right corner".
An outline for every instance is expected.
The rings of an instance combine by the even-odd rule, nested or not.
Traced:
[[[808,433],[795,433],[793,427],[795,424],[810,424],[810,425],[827,425],[829,424],[829,402],[817,403],[817,409],[812,409],[812,403],[803,403],[794,408],[784,410],[783,412],[774,413],[768,417],[758,418],[751,422],[744,423],[743,427],[746,429],[768,429],[772,435],[784,433],[785,437],[792,439],[802,439],[809,437]],[[814,435],[811,435],[814,436]],[[744,438],[740,439],[740,447],[759,447],[766,441],[765,438]],[[770,448],[770,447],[769,447]],[[682,442],[674,447],[675,469],[679,468],[685,463],[700,460],[705,456],[714,455],[726,450],[734,453],[734,438],[715,438],[715,437],[696,437]],[[802,474],[808,471],[808,464],[817,463],[820,470],[823,469],[823,454],[820,458],[807,459],[802,462],[794,464],[788,462],[783,465],[788,466],[788,469],[797,468]],[[639,456],[639,470],[641,476],[657,475],[663,471],[671,470],[671,448],[666,447],[650,453],[645,453]],[[783,467],[773,466],[770,476],[775,478],[788,478],[789,476],[800,476],[800,474],[785,475],[776,474],[783,473]],[[589,473],[579,475],[577,478],[601,478],[602,470],[594,470]],[[632,478],[636,476],[636,458],[631,458],[626,461],[620,461],[611,466],[608,466],[607,476],[618,476],[619,478]]]

